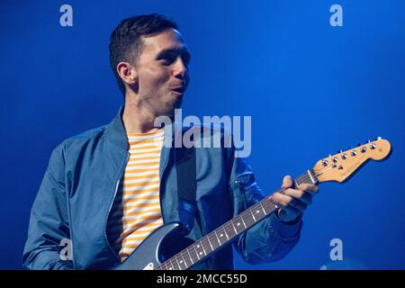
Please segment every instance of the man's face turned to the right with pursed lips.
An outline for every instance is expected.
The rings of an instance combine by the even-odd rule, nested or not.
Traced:
[[[190,53],[174,29],[143,37],[142,43],[136,65],[140,103],[156,116],[173,116],[190,80]]]

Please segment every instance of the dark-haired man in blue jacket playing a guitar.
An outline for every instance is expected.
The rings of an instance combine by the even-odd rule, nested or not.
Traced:
[[[190,53],[177,25],[158,14],[123,20],[112,32],[110,60],[125,104],[112,122],[66,139],[54,149],[31,210],[23,252],[30,269],[109,269],[150,232],[181,220],[173,148],[155,126],[173,118],[189,83]],[[196,211],[188,238],[202,238],[263,198],[249,166],[234,148],[195,148]],[[313,184],[270,199],[280,209],[233,242],[252,264],[284,257],[297,243]],[[71,258],[60,257],[69,239]],[[194,269],[233,269],[224,247]]]

